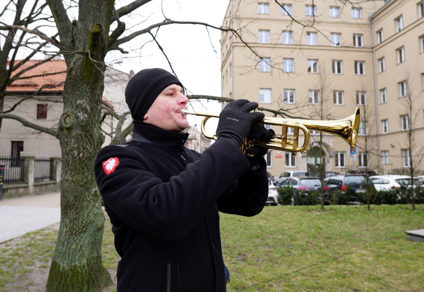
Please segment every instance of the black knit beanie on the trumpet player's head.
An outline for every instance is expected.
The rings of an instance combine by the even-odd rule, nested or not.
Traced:
[[[125,88],[125,101],[132,119],[143,121],[156,97],[171,84],[183,87],[177,77],[160,68],[144,69],[135,74]]]

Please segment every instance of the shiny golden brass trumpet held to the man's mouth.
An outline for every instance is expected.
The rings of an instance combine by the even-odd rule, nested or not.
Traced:
[[[211,117],[219,117],[219,114],[192,112],[187,109],[181,110],[182,115],[193,114],[199,116],[205,116],[202,121],[201,129],[202,134],[209,138],[216,140],[216,133],[210,135],[206,132],[205,124]],[[293,118],[279,118],[279,117],[265,117],[260,123],[266,125],[281,126],[282,134],[273,136],[268,140],[245,139],[244,145],[242,146],[243,152],[246,152],[252,146],[260,146],[268,149],[282,150],[292,152],[305,153],[309,150],[309,131],[317,130],[329,134],[339,136],[350,145],[350,150],[353,151],[356,146],[356,140],[358,138],[359,130],[359,107],[356,107],[355,112],[344,119],[339,120],[308,120],[308,119],[293,119]],[[293,139],[288,138],[287,128],[294,128]],[[302,131],[305,135],[305,141],[302,146],[299,144],[299,131]]]

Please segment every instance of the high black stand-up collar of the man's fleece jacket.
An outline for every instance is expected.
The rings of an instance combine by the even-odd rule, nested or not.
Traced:
[[[153,143],[169,149],[182,149],[189,136],[184,132],[172,132],[145,122],[134,121],[133,141]]]

